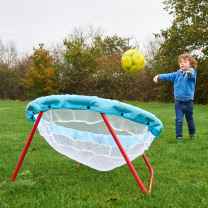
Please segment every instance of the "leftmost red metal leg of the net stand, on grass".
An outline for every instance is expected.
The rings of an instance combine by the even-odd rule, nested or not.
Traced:
[[[33,126],[33,128],[32,128],[32,131],[31,131],[31,133],[30,133],[30,136],[29,136],[29,138],[28,138],[28,140],[27,140],[27,143],[26,143],[26,145],[25,145],[25,147],[24,147],[24,150],[23,150],[23,152],[22,152],[22,155],[21,155],[21,157],[20,157],[20,159],[19,159],[19,162],[18,162],[18,164],[17,164],[17,167],[16,167],[16,169],[15,169],[15,171],[14,171],[14,173],[13,173],[13,176],[12,176],[12,178],[11,178],[11,182],[12,182],[12,181],[15,181],[15,179],[16,179],[16,176],[17,176],[17,174],[18,174],[18,172],[19,172],[19,169],[20,169],[20,167],[21,167],[21,165],[22,165],[22,162],[23,162],[23,160],[24,160],[24,158],[25,158],[25,155],[26,155],[27,150],[28,150],[28,148],[29,148],[29,146],[30,146],[30,143],[31,143],[31,141],[32,141],[32,138],[33,138],[33,136],[34,136],[34,134],[35,134],[35,130],[37,129],[37,126],[38,126],[38,124],[39,124],[39,122],[40,122],[40,119],[41,119],[42,115],[43,115],[43,111],[39,112],[38,117],[37,117],[37,119],[36,119],[36,121],[35,121],[35,124],[34,124],[34,126]]]

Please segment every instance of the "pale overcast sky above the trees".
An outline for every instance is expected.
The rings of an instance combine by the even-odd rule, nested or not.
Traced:
[[[105,36],[133,36],[142,45],[152,33],[171,26],[163,1],[0,0],[0,39],[14,41],[20,53],[31,53],[39,43],[61,42],[74,27],[91,24]]]

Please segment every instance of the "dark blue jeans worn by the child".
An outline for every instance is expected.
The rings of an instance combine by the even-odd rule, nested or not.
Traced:
[[[178,101],[175,100],[176,113],[176,138],[183,137],[183,120],[184,114],[188,124],[189,134],[195,134],[195,125],[193,117],[193,101]]]

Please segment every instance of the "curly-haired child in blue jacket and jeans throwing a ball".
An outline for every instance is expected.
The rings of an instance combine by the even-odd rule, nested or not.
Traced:
[[[180,69],[169,74],[159,74],[153,78],[155,83],[158,79],[174,81],[174,98],[176,113],[176,143],[183,143],[183,120],[184,114],[188,123],[191,140],[196,140],[195,125],[193,118],[193,98],[196,85],[197,61],[190,54],[182,54],[178,58]]]

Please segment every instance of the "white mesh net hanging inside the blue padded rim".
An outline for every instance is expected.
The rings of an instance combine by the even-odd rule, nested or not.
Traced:
[[[145,125],[106,116],[131,161],[155,138]],[[126,164],[100,113],[52,109],[43,113],[38,130],[56,151],[91,168],[108,171]]]

